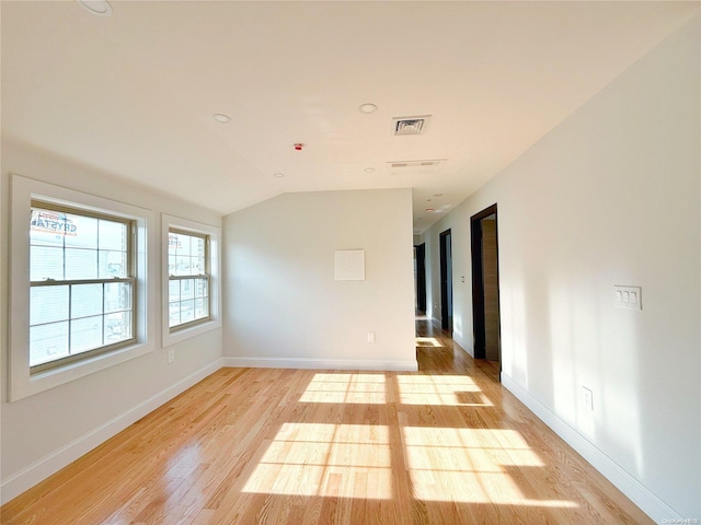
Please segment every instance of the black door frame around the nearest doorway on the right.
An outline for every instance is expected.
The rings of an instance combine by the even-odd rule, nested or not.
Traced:
[[[496,220],[496,282],[497,296],[498,282],[499,282],[499,269],[498,269],[498,213],[496,203],[485,208],[484,210],[475,213],[470,218],[470,236],[472,247],[472,330],[474,337],[474,359],[486,358],[486,332],[485,332],[485,315],[484,315],[484,268],[482,265],[482,219],[494,214]],[[501,316],[499,316],[501,319]],[[501,331],[499,322],[499,331]],[[502,363],[502,349],[499,346],[499,368]]]

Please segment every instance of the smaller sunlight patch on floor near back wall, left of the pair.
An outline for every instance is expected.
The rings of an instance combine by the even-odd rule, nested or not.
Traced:
[[[300,402],[386,402],[383,374],[314,375]]]

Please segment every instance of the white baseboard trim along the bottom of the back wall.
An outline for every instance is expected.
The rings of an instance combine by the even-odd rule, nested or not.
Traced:
[[[233,369],[375,370],[416,372],[416,361],[354,361],[336,359],[223,358],[223,366]]]

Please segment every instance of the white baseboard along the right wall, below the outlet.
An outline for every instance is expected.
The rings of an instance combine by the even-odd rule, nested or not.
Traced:
[[[681,514],[655,495],[647,487],[504,372],[502,372],[502,384],[655,523],[664,523],[663,520],[683,520]]]

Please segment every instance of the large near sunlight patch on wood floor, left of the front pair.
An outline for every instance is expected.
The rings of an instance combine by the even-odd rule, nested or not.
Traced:
[[[387,427],[285,423],[243,492],[392,498]]]

